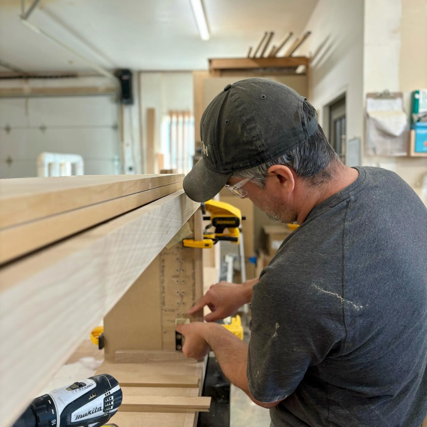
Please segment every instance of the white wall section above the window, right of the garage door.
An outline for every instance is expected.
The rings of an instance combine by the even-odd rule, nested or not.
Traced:
[[[193,73],[141,71],[140,72],[141,141],[146,147],[147,108],[155,109],[155,140],[160,149],[161,117],[171,110],[193,112]],[[145,156],[144,156],[145,157]]]

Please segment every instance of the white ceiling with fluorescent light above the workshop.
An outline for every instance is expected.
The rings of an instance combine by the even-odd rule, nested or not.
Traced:
[[[200,39],[189,0],[41,0],[29,22],[105,68],[193,70],[206,69],[208,58],[246,56],[263,31],[275,31],[272,44],[287,31],[298,36],[316,3],[204,0],[209,41]],[[26,72],[88,70],[21,24],[19,13],[19,0],[0,0],[0,60]]]

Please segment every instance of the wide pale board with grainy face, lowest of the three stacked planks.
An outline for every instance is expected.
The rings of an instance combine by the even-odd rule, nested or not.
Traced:
[[[0,380],[8,385],[0,401],[9,408],[0,427],[12,424],[198,206],[177,191],[0,269]]]

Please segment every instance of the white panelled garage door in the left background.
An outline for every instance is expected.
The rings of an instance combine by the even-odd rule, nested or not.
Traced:
[[[63,85],[67,79],[59,80]],[[1,89],[22,84],[2,81]],[[37,176],[36,159],[44,151],[82,155],[85,174],[120,173],[117,136],[117,104],[111,95],[0,97],[0,178]]]

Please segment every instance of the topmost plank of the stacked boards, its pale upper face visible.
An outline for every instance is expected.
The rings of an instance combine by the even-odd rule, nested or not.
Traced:
[[[184,175],[84,175],[0,180],[0,228],[178,183],[183,178]]]

